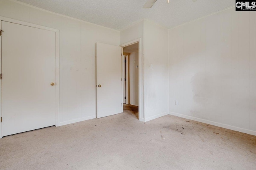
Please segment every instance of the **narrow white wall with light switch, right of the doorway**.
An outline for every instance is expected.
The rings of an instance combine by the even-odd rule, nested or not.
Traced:
[[[153,68],[150,68],[153,64]],[[151,120],[169,112],[168,29],[144,20],[144,114]]]

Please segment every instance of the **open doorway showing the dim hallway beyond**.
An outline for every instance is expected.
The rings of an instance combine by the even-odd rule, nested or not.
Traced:
[[[139,119],[139,42],[123,48],[123,109]]]

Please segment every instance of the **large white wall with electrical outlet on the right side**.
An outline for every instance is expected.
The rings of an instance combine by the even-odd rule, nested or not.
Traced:
[[[234,8],[169,29],[170,113],[256,135],[255,41]]]

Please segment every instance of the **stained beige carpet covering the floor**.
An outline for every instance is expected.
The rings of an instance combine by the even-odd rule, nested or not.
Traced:
[[[0,169],[254,169],[256,137],[166,115],[124,113],[0,139]]]

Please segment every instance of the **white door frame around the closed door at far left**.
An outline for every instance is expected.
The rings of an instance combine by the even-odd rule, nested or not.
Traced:
[[[49,27],[44,27],[41,25],[36,25],[34,23],[28,23],[24,21],[14,20],[11,18],[6,18],[0,16],[0,29],[2,28],[2,21],[7,21],[11,23],[16,23],[20,25],[25,25],[29,27],[44,29],[48,31],[54,31],[56,33],[56,126],[59,126],[59,107],[60,107],[60,31],[58,29],[53,29]],[[2,35],[4,35],[4,30],[2,30]],[[2,37],[0,37],[0,73],[2,74]],[[4,75],[3,75],[4,76]],[[0,117],[2,117],[2,80],[0,80]],[[0,122],[0,138],[2,138],[2,122]]]

